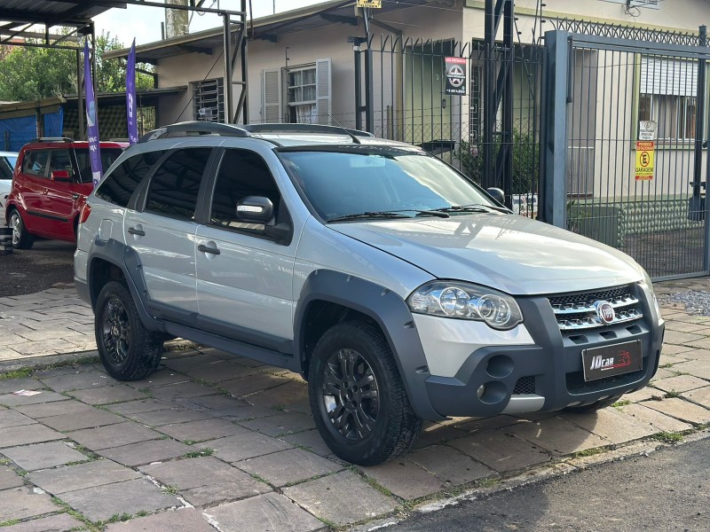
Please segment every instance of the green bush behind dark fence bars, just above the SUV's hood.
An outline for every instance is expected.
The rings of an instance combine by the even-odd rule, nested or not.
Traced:
[[[493,142],[493,153],[501,149],[501,139]],[[513,193],[537,192],[538,167],[540,166],[540,146],[533,135],[513,129]],[[469,144],[461,141],[454,153],[461,160],[461,171],[480,184],[483,176],[483,144]]]

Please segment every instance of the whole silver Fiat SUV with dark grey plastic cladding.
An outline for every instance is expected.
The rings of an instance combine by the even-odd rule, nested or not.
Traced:
[[[360,465],[409,450],[422,419],[595,411],[659,364],[631,258],[362,131],[156,129],[81,222],[76,286],[115,379],[153,372],[166,336],[288,368]]]

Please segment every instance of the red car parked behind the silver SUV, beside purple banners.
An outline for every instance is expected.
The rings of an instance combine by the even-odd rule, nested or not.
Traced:
[[[126,146],[100,143],[104,171]],[[79,214],[91,190],[89,143],[38,138],[22,146],[5,206],[12,246],[27,249],[35,237],[75,242]]]

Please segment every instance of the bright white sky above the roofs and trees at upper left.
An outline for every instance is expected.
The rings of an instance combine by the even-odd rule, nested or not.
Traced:
[[[155,0],[154,0],[155,1]],[[159,1],[159,0],[158,0]],[[253,18],[265,17],[276,12],[286,12],[306,5],[322,4],[324,0],[251,0],[254,11]],[[248,5],[248,3],[247,3]],[[231,11],[239,11],[241,0],[207,0],[205,7],[220,7]],[[223,19],[219,15],[191,13],[190,33],[213,27],[221,27]],[[98,17],[94,17],[97,35],[101,31],[110,32],[118,37],[121,43],[130,46],[133,37],[137,44],[154,43],[161,40],[161,22],[165,20],[165,12],[159,7],[129,5],[126,9],[111,9]]]

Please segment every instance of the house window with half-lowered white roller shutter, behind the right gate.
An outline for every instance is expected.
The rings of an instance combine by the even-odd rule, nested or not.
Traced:
[[[695,139],[698,63],[641,59],[638,119],[656,121],[659,141]]]

